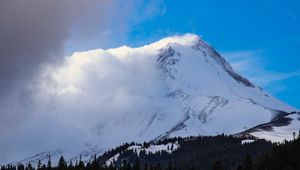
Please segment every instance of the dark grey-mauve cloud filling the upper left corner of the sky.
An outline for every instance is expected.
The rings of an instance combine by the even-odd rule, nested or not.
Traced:
[[[109,0],[0,1],[1,131],[26,116],[32,93],[27,83],[39,68],[45,63],[59,64],[64,45],[73,32],[80,35],[77,37],[80,40],[103,31],[108,20],[106,9],[111,9],[114,3]]]

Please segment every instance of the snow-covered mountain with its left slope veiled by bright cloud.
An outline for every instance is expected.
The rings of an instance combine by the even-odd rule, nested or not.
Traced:
[[[74,120],[64,121],[67,129],[84,129],[78,137],[85,144],[66,149],[74,141],[68,140],[54,152],[20,161],[25,164],[61,154],[89,160],[125,142],[176,136],[224,133],[282,141],[300,129],[297,109],[236,73],[193,34],[139,48],[75,53],[45,74],[51,83],[40,82],[43,90],[37,96],[51,98],[53,112]]]

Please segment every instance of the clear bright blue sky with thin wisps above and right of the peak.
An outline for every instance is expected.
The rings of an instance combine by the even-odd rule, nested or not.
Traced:
[[[300,108],[299,0],[136,2],[138,5],[127,8],[128,17],[121,18],[126,20],[125,28],[111,27],[101,33],[105,43],[95,38],[85,46],[81,43],[80,48],[140,46],[165,36],[195,33],[223,54],[236,71]]]

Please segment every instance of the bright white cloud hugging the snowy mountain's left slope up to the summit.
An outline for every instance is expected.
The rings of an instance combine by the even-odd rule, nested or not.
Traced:
[[[123,46],[76,52],[59,65],[44,64],[28,83],[31,104],[22,109],[28,109],[30,115],[0,141],[2,161],[19,160],[45,150],[80,149],[86,142],[97,146],[105,138],[103,131],[116,133],[105,133],[109,139],[120,138],[116,125],[128,129],[125,136],[136,136],[139,129],[132,124],[132,117],[137,122],[149,120],[157,112],[153,98],[165,97],[166,87],[153,56],[174,38],[144,48]],[[106,144],[120,144],[117,139]]]

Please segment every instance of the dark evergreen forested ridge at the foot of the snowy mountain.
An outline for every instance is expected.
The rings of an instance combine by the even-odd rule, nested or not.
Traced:
[[[155,153],[128,149],[133,145],[148,148],[153,143],[125,143],[105,152],[89,162],[81,160],[66,162],[61,156],[57,165],[51,157],[46,164],[5,165],[1,170],[299,170],[300,138],[283,143],[254,140],[242,144],[242,139],[233,136],[198,136],[171,138],[156,142],[156,145],[176,143],[180,147]],[[116,161],[107,160],[118,155]]]

